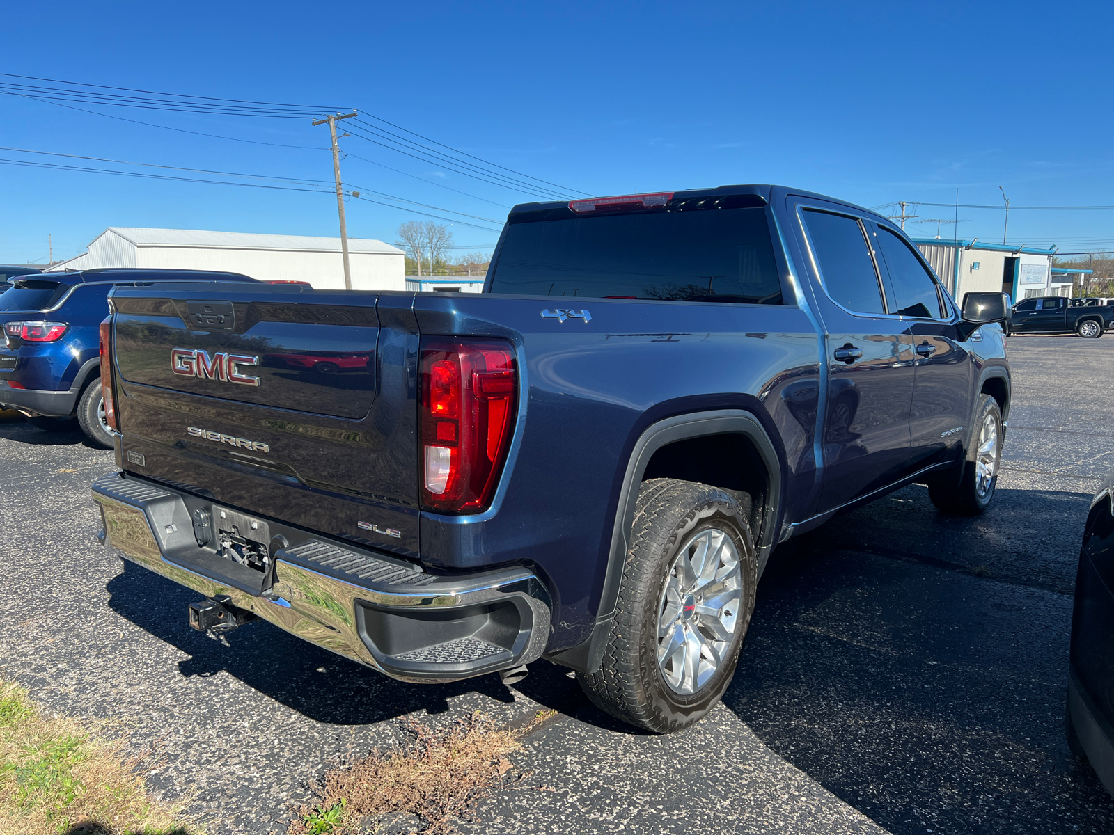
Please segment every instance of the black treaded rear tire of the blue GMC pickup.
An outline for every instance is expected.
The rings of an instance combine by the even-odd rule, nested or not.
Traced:
[[[754,542],[743,510],[734,498],[719,488],[675,479],[643,483],[631,534],[631,549],[623,567],[603,665],[596,672],[577,672],[576,677],[588,698],[600,709],[631,725],[668,734],[698,721],[731,682],[754,610],[758,582]],[[685,568],[692,568],[691,561],[684,566],[682,561],[695,556],[697,546],[694,543],[702,540],[709,543],[709,550],[716,548],[713,562],[706,563],[711,571],[715,577],[726,572],[732,583],[731,602],[722,605],[719,615],[712,618],[721,627],[727,618],[733,631],[724,631],[721,637],[730,636],[730,640],[716,640],[709,626],[711,621],[696,611],[696,605],[704,602],[702,593],[690,593],[675,606],[668,602],[670,589],[680,581]],[[733,566],[737,566],[737,573]],[[706,571],[702,573],[704,578],[710,576]],[[734,599],[736,577],[740,593]],[[725,600],[727,590],[721,595],[716,586],[723,582],[710,582],[709,593]],[[667,607],[674,607],[675,617],[666,613]],[[732,613],[730,608],[735,611]],[[703,641],[696,655],[696,675],[686,679],[687,672],[680,674],[682,685],[692,681],[692,692],[677,690],[666,678],[678,675],[676,654],[658,661],[658,623],[663,617],[671,619],[670,628],[677,635],[701,632],[702,638],[694,638]],[[687,648],[693,645],[682,641],[674,646]],[[716,656],[717,662],[712,666]],[[705,662],[711,670],[704,669]],[[707,677],[701,679],[701,675]]]

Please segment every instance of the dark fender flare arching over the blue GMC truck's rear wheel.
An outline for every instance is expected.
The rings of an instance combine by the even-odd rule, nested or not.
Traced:
[[[691,438],[719,434],[741,434],[758,449],[765,465],[769,489],[762,512],[762,534],[755,542],[759,559],[759,577],[765,568],[770,553],[776,544],[782,513],[782,461],[762,421],[752,412],[742,409],[722,409],[709,412],[681,414],[651,424],[639,435],[627,459],[623,487],[619,491],[615,522],[612,530],[612,546],[607,557],[607,570],[596,613],[596,623],[588,639],[569,649],[547,655],[549,660],[584,672],[595,672],[604,658],[604,649],[610,635],[615,606],[618,602],[619,583],[623,579],[623,563],[629,549],[629,533],[634,524],[638,487],[642,484],[646,465],[654,453],[663,446]]]

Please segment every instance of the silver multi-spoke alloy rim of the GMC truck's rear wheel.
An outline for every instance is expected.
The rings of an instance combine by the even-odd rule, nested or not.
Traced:
[[[657,667],[671,690],[694,694],[726,664],[742,598],[734,540],[719,528],[694,533],[670,566],[657,608]]]

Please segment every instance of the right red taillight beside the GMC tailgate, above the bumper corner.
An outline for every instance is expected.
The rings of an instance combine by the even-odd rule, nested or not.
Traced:
[[[515,424],[515,354],[497,341],[430,338],[421,351],[422,503],[476,512],[495,493]]]

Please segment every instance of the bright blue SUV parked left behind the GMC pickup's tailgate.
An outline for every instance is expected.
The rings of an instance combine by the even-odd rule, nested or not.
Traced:
[[[80,426],[113,448],[104,415],[98,327],[117,284],[167,279],[254,282],[237,273],[193,269],[86,269],[17,277],[0,296],[0,407],[14,409],[48,432]]]

